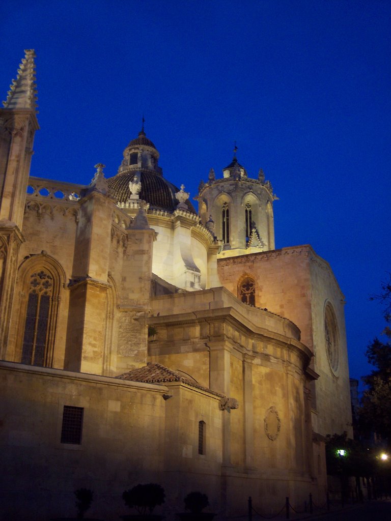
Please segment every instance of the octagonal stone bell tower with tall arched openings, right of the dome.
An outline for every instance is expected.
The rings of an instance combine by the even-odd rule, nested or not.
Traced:
[[[234,157],[223,168],[223,178],[216,179],[213,168],[206,183],[201,181],[199,215],[202,224],[213,227],[222,249],[219,257],[274,250],[273,194],[270,181],[260,169],[258,179],[248,176]]]

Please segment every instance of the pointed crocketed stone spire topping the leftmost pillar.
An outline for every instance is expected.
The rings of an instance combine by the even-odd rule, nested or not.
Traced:
[[[34,58],[35,53],[33,49],[27,49],[25,57],[19,65],[18,76],[10,85],[7,100],[3,101],[4,108],[32,109],[35,112],[37,91]]]

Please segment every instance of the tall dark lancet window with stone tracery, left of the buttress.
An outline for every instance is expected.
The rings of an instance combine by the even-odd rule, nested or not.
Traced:
[[[22,364],[51,365],[51,327],[54,309],[54,281],[52,275],[41,269],[30,275],[27,313],[23,333]]]

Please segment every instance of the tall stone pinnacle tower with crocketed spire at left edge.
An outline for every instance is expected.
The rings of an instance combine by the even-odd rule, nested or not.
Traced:
[[[8,338],[36,119],[34,51],[25,51],[0,109],[0,357]]]

